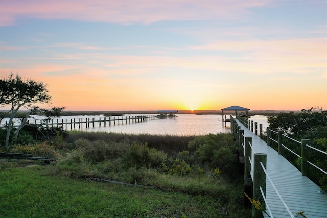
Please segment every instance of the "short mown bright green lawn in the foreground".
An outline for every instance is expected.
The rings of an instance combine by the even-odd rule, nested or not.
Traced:
[[[219,196],[187,195],[71,177],[53,166],[0,163],[1,217],[249,217]]]

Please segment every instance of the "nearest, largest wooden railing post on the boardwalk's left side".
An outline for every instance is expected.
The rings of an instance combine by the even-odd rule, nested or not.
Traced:
[[[266,203],[262,197],[260,187],[264,195],[266,195],[266,174],[260,163],[263,163],[265,169],[267,168],[267,154],[255,153],[253,161],[253,200],[259,201],[263,209],[266,209]],[[262,217],[262,211],[255,209],[252,206],[252,217]]]

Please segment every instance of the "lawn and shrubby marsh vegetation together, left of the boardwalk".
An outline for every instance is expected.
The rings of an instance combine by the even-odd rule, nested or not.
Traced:
[[[243,178],[237,170],[240,168],[238,149],[231,134],[196,137],[56,131],[35,140],[36,137],[23,131],[17,145],[8,151],[56,161],[43,164],[2,159],[2,214],[14,217],[31,214],[40,217],[45,213],[53,217],[250,215],[250,209],[243,207]],[[99,183],[91,178],[131,185]],[[13,201],[13,196],[19,199]]]

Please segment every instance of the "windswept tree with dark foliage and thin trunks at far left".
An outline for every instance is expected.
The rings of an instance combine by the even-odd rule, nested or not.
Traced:
[[[0,107],[10,107],[10,110],[7,112],[10,118],[7,124],[6,148],[9,147],[10,137],[12,136],[14,139],[17,139],[19,131],[27,125],[29,115],[44,114],[46,116],[58,116],[60,114],[64,107],[54,107],[48,110],[40,109],[37,106],[37,104],[49,103],[50,101],[51,96],[49,95],[49,91],[42,82],[24,79],[18,76],[18,74],[16,76],[10,74],[8,77],[0,79]],[[16,118],[19,110],[28,110],[29,112],[26,113],[25,117],[21,118],[19,127],[13,129],[13,120]],[[5,115],[3,114],[1,116],[1,120]]]

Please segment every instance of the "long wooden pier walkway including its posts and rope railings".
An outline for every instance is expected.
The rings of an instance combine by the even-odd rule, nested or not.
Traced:
[[[245,167],[245,187],[251,187],[253,199],[261,202],[270,217],[327,217],[327,193],[322,192],[319,186],[304,176],[303,169],[300,172],[268,146],[258,136],[257,124],[254,133],[253,123],[251,128],[250,125],[248,120],[231,117],[231,130],[240,144],[240,162]],[[262,136],[262,130],[259,135]],[[268,141],[272,140],[269,138],[268,134]],[[309,147],[306,139],[302,146]],[[256,161],[258,156],[262,159]],[[302,166],[309,163],[303,155],[301,159]],[[326,173],[323,170],[322,172]],[[253,208],[252,217],[269,217],[261,211],[258,214],[258,211]]]

